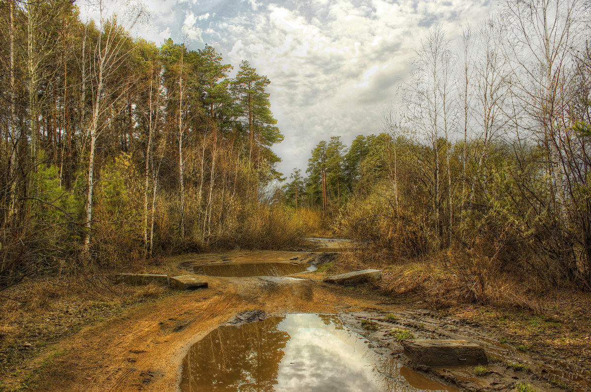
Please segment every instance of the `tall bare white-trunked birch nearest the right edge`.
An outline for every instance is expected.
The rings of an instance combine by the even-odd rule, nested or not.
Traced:
[[[530,131],[547,150],[550,192],[557,215],[564,213],[564,167],[561,137],[565,124],[562,86],[569,85],[574,68],[573,50],[585,31],[579,0],[508,0],[502,7],[508,29],[511,59],[511,92],[527,110]],[[527,124],[524,124],[524,128]]]

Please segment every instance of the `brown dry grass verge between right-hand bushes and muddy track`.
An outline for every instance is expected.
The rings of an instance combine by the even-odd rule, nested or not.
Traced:
[[[374,290],[411,310],[479,326],[480,333],[517,352],[585,367],[591,359],[591,297],[572,285],[548,285],[531,274],[491,273],[451,252],[409,260],[361,246],[340,255],[330,273],[383,271]],[[456,264],[453,264],[453,263]],[[566,362],[564,362],[566,363]]]

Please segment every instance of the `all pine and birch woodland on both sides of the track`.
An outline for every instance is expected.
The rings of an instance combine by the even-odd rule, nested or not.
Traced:
[[[461,271],[476,302],[504,277],[591,289],[584,4],[508,1],[460,40],[431,28],[382,133],[320,141],[287,180],[270,80],[134,40],[145,12],[2,4],[0,287],[325,231],[371,248],[360,263]]]

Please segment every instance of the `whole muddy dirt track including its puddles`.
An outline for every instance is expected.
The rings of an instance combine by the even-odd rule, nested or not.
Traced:
[[[323,273],[307,268],[350,244],[310,243],[307,251],[170,259],[169,273],[195,274],[209,289],[129,310],[49,348],[31,363],[44,368],[36,390],[493,391],[525,383],[558,391],[559,382],[591,390],[588,369],[517,352],[487,328],[402,307],[369,286],[322,283]],[[477,342],[488,371],[407,366],[405,333]]]

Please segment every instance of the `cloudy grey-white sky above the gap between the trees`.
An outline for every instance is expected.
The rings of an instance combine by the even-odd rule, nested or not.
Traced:
[[[81,0],[85,1],[85,0]],[[96,1],[96,0],[94,0]],[[105,0],[117,9],[122,0]],[[119,4],[119,5],[117,5]],[[156,44],[186,40],[213,46],[238,69],[248,60],[271,80],[271,111],[284,134],[273,147],[277,169],[306,170],[320,140],[381,132],[381,114],[396,106],[413,49],[439,24],[457,41],[460,25],[494,11],[490,0],[146,0],[148,24],[132,33]],[[96,8],[79,3],[81,16]],[[233,75],[232,75],[233,76]]]

